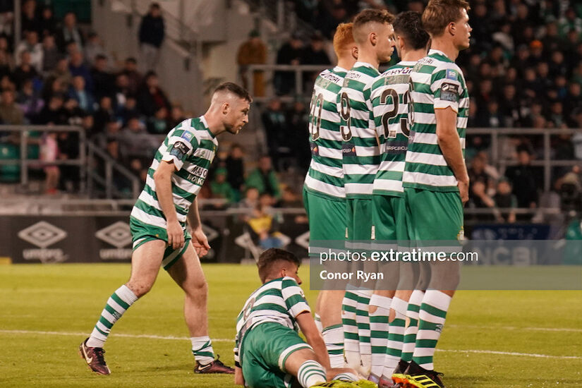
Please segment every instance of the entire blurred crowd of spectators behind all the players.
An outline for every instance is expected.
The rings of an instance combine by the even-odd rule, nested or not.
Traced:
[[[22,2],[23,40],[15,47],[11,3],[0,1],[0,123],[82,126],[87,138],[145,180],[159,140],[176,123],[200,114],[183,111],[159,85],[155,69],[164,42],[159,6],[151,4],[142,18],[136,37],[140,56],[133,58],[107,52],[99,35],[78,23],[75,13],[56,17],[51,6],[37,0]],[[222,199],[219,202],[226,205],[212,207],[265,212],[278,206],[301,207],[301,181],[310,162],[308,106],[318,72],[305,73],[300,92],[293,73],[277,71],[269,78],[265,71],[249,72],[248,66],[331,66],[331,38],[338,23],[351,20],[363,8],[422,12],[425,4],[400,0],[288,3],[308,28],[291,32],[277,47],[253,30],[236,56],[241,82],[256,97],[266,98],[255,104],[260,123],[254,125],[262,127],[267,151],[257,156],[234,143],[219,149],[200,197]],[[471,95],[468,126],[582,128],[582,4],[561,0],[470,3],[471,48],[457,60]],[[398,60],[394,52],[391,63],[382,69]],[[30,135],[29,157],[50,162],[78,155],[74,133]],[[10,157],[11,145],[18,139],[0,127],[0,140],[0,154]],[[568,166],[552,171],[552,192],[542,193],[540,167],[532,166],[543,156],[541,135],[511,135],[502,143],[499,157],[514,165],[499,171],[491,162],[490,137],[468,136],[469,206],[506,209],[487,217],[514,222],[520,216],[508,208],[552,206],[556,201],[559,205],[570,191],[582,191],[579,167]],[[582,133],[553,136],[551,157],[582,160]],[[10,181],[10,169],[3,166],[2,171],[0,178]],[[46,176],[48,193],[75,190],[78,184],[75,166],[45,166],[38,174]]]

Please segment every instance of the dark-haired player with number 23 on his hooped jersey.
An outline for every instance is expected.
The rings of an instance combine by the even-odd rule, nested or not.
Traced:
[[[374,179],[372,192],[372,221],[375,248],[406,249],[408,222],[402,173],[406,159],[410,120],[408,83],[418,59],[427,54],[429,36],[423,30],[420,13],[399,13],[394,20],[396,50],[401,61],[382,73],[370,87],[372,116],[380,146],[380,167]],[[385,387],[391,384],[392,373],[399,366],[404,372],[408,363],[399,365],[404,344],[408,299],[416,284],[411,263],[389,263],[384,266],[386,279],[372,298],[377,309],[370,308],[370,329],[388,332],[387,337],[373,336],[372,370],[369,380]],[[372,304],[372,303],[370,303]],[[392,319],[389,319],[392,317]],[[375,351],[377,348],[377,351]],[[385,357],[382,357],[383,354]]]

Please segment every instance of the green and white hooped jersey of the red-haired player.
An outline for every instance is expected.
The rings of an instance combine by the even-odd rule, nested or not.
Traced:
[[[333,198],[346,197],[337,95],[347,72],[339,66],[322,71],[315,80],[310,104],[311,164],[305,176],[305,188]]]

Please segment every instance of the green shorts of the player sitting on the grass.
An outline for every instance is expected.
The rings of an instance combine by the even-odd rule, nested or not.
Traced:
[[[311,348],[289,327],[261,323],[245,334],[241,344],[241,365],[250,388],[289,388],[295,377],[284,372],[291,353]]]

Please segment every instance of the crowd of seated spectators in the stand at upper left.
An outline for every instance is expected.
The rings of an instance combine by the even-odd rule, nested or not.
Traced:
[[[78,25],[73,12],[57,20],[51,7],[23,1],[22,40],[17,44],[11,31],[13,17],[9,12],[0,15],[0,124],[82,126],[85,136],[110,157],[145,178],[158,142],[140,142],[139,135],[165,135],[186,117],[179,104],[171,104],[152,70],[164,40],[159,5],[150,6],[140,25],[144,63],[133,57],[111,58],[99,35]],[[16,147],[15,135],[0,130],[5,145]],[[30,137],[29,158],[54,162],[78,157],[78,133]],[[78,186],[75,166],[42,170],[48,193]]]

